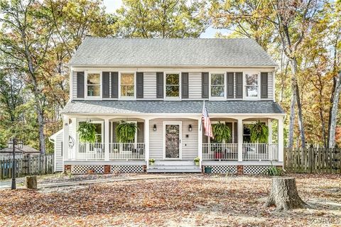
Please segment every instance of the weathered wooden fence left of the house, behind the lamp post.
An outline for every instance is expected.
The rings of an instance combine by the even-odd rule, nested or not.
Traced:
[[[24,155],[16,158],[16,177],[47,175],[54,171],[54,155]],[[12,177],[13,159],[0,160],[0,179]]]

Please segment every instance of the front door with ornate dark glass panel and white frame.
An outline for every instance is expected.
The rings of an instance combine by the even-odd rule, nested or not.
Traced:
[[[163,158],[181,158],[181,122],[163,123]]]

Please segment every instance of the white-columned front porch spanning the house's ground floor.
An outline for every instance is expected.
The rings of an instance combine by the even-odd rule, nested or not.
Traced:
[[[249,142],[247,124],[258,119],[269,126],[268,143]],[[135,122],[138,126],[133,143],[117,141],[115,128],[121,120]],[[82,121],[97,124],[98,143],[80,142],[77,126]],[[179,168],[193,166],[194,170],[195,157],[200,158],[200,170],[204,166],[227,166],[233,167],[236,172],[239,165],[283,165],[282,116],[212,116],[211,121],[212,124],[219,121],[229,126],[231,139],[227,143],[215,143],[204,135],[200,115],[181,118],[68,116],[65,118],[63,138],[69,143],[63,143],[66,150],[63,165],[102,166],[101,172],[104,172],[105,166],[138,165],[139,170],[151,170],[156,166],[151,167],[148,161],[154,159],[156,165],[173,166],[176,162]],[[175,134],[170,134],[169,128]]]

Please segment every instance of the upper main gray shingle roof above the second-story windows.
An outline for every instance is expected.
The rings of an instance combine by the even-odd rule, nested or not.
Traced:
[[[70,65],[89,66],[276,66],[248,38],[85,38]]]

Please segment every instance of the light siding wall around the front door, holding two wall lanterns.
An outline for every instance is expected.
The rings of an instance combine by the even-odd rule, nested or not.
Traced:
[[[182,159],[193,160],[197,157],[197,121],[192,119],[154,119],[149,121],[150,140],[149,140],[149,157],[156,160],[163,158],[163,121],[182,121]],[[157,130],[153,131],[153,125],[156,125]],[[193,131],[188,131],[188,126],[192,125]],[[188,138],[186,138],[188,135]]]

